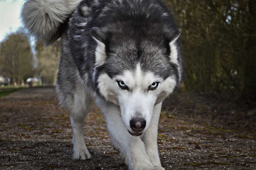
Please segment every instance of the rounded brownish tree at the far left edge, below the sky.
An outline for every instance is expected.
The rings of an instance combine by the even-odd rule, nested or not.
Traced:
[[[30,42],[22,30],[9,34],[0,44],[1,72],[11,83],[21,84],[33,77],[33,54]]]

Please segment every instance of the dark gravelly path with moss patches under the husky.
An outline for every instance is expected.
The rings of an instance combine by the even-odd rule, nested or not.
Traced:
[[[209,98],[185,93],[165,101],[158,134],[162,166],[255,170],[255,110]],[[0,169],[127,169],[96,107],[85,120],[91,160],[72,159],[71,138],[69,113],[58,106],[53,87],[0,98]]]

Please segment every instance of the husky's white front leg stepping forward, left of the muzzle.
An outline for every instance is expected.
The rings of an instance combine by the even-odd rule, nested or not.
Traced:
[[[120,108],[105,102],[99,104],[105,116],[112,144],[124,155],[129,170],[155,170],[140,137],[130,135],[124,126]]]

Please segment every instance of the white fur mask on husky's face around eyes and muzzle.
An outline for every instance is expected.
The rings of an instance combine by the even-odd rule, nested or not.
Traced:
[[[146,130],[150,126],[153,107],[162,102],[175,88],[175,77],[163,80],[152,72],[143,72],[138,64],[135,71],[126,70],[122,75],[111,79],[107,74],[98,78],[98,88],[106,100],[119,105],[122,120],[130,131],[130,120],[132,118],[143,118],[146,120]],[[120,88],[118,82],[123,83],[129,90]],[[154,90],[148,90],[154,82],[159,82]]]

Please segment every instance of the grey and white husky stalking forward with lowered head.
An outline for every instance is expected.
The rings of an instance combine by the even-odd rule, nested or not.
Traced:
[[[94,101],[129,169],[164,169],[158,120],[181,84],[182,54],[181,31],[162,1],[30,0],[22,20],[48,45],[61,37],[56,89],[70,112],[74,159],[91,158],[84,118]]]

